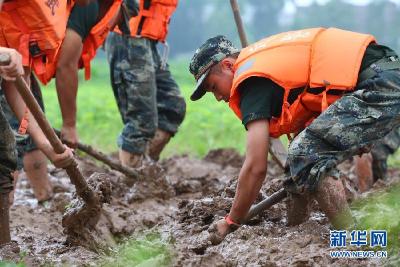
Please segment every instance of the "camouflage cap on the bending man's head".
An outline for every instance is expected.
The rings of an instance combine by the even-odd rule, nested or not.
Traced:
[[[199,100],[206,93],[202,87],[202,83],[207,77],[210,68],[225,57],[239,51],[239,49],[233,46],[231,41],[222,35],[208,39],[196,50],[189,65],[189,71],[197,81],[194,92],[190,96],[192,101]]]

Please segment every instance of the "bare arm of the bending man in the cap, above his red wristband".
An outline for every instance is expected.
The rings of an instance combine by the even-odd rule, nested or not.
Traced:
[[[229,216],[240,222],[260,192],[267,173],[269,123],[257,120],[247,125],[246,159],[240,170],[235,199]]]

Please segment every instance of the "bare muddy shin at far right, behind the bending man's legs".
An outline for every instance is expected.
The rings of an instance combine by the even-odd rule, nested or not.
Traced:
[[[372,156],[370,153],[354,157],[355,171],[357,174],[358,189],[360,192],[368,191],[373,184]]]

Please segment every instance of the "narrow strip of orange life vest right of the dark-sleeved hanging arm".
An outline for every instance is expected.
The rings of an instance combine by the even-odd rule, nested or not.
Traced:
[[[121,4],[122,0],[112,1],[105,15],[93,26],[83,43],[81,63],[85,68],[86,80],[90,79],[90,61],[96,56],[97,49],[104,43],[108,33],[117,23]]]

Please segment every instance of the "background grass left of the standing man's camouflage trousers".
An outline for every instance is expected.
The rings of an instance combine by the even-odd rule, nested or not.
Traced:
[[[116,150],[115,140],[122,121],[110,87],[107,62],[96,60],[92,66],[90,81],[85,81],[80,75],[78,132],[82,142],[111,152]],[[60,128],[62,120],[54,82],[42,88],[42,92],[46,116],[54,127]]]

